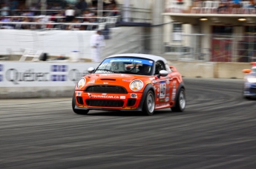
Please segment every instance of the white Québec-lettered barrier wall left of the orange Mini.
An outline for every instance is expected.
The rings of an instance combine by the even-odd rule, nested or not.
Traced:
[[[0,62],[0,99],[71,97],[76,82],[99,63]]]

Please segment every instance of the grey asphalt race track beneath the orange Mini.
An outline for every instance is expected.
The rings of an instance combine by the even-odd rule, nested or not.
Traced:
[[[0,100],[0,168],[255,169],[256,100],[243,80],[185,78],[187,107],[77,115],[71,97]]]

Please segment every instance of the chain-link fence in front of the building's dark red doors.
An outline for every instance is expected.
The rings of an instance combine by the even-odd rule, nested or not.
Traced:
[[[256,61],[256,36],[180,34],[165,43],[165,54],[182,61]]]

